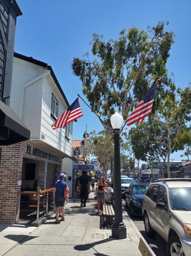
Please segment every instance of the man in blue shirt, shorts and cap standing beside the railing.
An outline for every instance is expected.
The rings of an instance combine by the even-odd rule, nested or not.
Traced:
[[[64,191],[69,190],[68,185],[66,182],[64,182],[64,178],[66,178],[66,175],[64,173],[61,173],[59,176],[59,180],[55,183],[54,185],[54,190],[53,190],[53,199],[55,199],[55,207],[56,207],[56,223],[59,221],[65,221],[64,218],[64,202],[65,202],[65,197],[64,197]],[[62,218],[58,220],[59,216],[59,208],[61,208],[62,212]]]

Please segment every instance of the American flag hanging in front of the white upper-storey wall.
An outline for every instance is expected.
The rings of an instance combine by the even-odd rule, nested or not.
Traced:
[[[71,105],[66,109],[63,114],[58,117],[57,121],[52,124],[52,129],[65,128],[66,124],[78,119],[83,116],[82,110],[79,104],[79,98],[77,98]]]

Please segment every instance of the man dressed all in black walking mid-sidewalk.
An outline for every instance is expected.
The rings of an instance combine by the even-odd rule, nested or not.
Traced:
[[[78,187],[80,188],[79,198],[81,200],[80,207],[86,207],[86,200],[88,199],[88,191],[89,191],[89,176],[86,174],[86,171],[82,171],[82,175],[78,180]]]

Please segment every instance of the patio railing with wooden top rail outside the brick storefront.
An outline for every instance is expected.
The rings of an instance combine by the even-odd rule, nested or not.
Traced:
[[[18,201],[18,216],[17,216],[17,222],[19,222],[20,218],[20,212],[31,212],[31,210],[24,210],[21,209],[21,203],[29,204],[29,207],[36,207],[36,223],[39,223],[39,213],[40,210],[43,210],[43,213],[45,211],[45,216],[49,215],[49,208],[52,206],[52,210],[55,209],[55,203],[53,200],[53,188],[49,188],[46,190],[42,190],[40,192],[35,192],[35,191],[23,191],[23,192],[18,192],[19,194],[19,201]],[[21,201],[21,195],[28,195],[29,200],[27,201]],[[40,198],[42,197],[42,199]],[[35,203],[35,205],[30,205],[30,203]],[[42,207],[40,207],[40,205]],[[32,211],[34,212],[34,211]]]

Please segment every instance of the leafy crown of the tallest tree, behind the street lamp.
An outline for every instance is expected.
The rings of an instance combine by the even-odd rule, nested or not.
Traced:
[[[156,78],[159,80],[153,109],[159,105],[174,42],[174,34],[166,31],[166,25],[159,22],[147,31],[136,27],[128,32],[123,29],[118,39],[108,41],[104,41],[103,35],[93,34],[91,46],[95,59],[91,60],[89,53],[84,59],[73,59],[71,67],[82,82],[83,94],[107,124],[114,109],[126,119]]]

